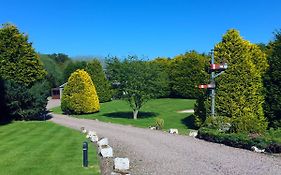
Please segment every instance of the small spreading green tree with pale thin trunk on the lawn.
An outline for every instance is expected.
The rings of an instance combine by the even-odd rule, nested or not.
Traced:
[[[128,56],[124,61],[112,58],[107,62],[107,73],[116,84],[121,98],[133,109],[133,118],[137,119],[141,107],[150,99],[159,97],[162,87],[162,71],[156,64]]]

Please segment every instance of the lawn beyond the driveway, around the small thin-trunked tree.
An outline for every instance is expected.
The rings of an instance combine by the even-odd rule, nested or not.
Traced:
[[[132,119],[132,110],[125,101],[114,100],[101,104],[100,112],[87,115],[76,115],[78,118],[98,119],[104,122],[120,123],[137,127],[149,127],[154,124],[155,117],[164,119],[165,128],[177,128],[181,134],[193,128],[190,114],[177,113],[185,109],[193,109],[195,100],[189,99],[156,99],[147,102],[139,113],[137,120]],[[62,113],[60,107],[52,109],[54,113]]]

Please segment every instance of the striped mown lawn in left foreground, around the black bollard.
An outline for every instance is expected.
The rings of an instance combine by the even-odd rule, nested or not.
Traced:
[[[100,174],[96,148],[89,144],[89,168],[82,167],[78,131],[51,122],[0,125],[0,175]]]

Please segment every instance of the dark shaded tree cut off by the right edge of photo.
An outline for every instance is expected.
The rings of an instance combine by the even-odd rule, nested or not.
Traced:
[[[269,69],[264,78],[266,87],[265,114],[271,127],[281,127],[281,32],[269,44]]]

